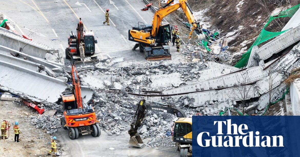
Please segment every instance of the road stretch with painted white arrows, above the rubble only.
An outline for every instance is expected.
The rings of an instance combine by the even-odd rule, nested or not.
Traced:
[[[151,24],[151,10],[141,11],[145,5],[140,0],[8,0],[1,2],[1,13],[13,21],[19,34],[26,34],[34,41],[61,49],[64,56],[67,38],[76,33],[79,18],[85,31],[94,31],[96,52],[103,59],[122,57],[130,63],[144,62],[143,53],[132,51],[136,42],[128,40],[128,30],[138,22]],[[104,12],[110,9],[110,26],[103,25]],[[182,56],[171,46],[172,61],[183,61]]]

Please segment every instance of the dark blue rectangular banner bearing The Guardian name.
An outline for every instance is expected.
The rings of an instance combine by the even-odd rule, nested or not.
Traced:
[[[193,116],[193,157],[300,157],[300,116]]]

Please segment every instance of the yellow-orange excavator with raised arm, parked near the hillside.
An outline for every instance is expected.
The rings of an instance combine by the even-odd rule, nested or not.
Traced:
[[[155,12],[152,25],[138,22],[138,26],[134,26],[128,31],[128,39],[137,42],[132,50],[139,48],[140,52],[144,53],[146,60],[171,59],[170,46],[168,45],[172,36],[171,27],[169,23],[162,22],[162,20],[179,8],[182,9],[191,25],[191,31],[188,35],[189,42],[197,42],[205,38],[199,22],[196,21],[187,4],[187,0],[179,0],[179,3],[170,5],[173,1],[171,0]]]

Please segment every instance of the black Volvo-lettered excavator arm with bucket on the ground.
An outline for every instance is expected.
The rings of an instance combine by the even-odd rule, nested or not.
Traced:
[[[167,105],[155,101],[150,101],[150,102],[155,103],[157,105],[146,105],[145,103],[146,101],[150,101],[150,100],[140,100],[135,115],[133,117],[133,121],[131,123],[131,129],[128,131],[130,135],[129,144],[131,144],[134,147],[141,148],[144,146],[143,140],[140,137],[139,133],[137,132],[137,129],[140,126],[142,126],[143,121],[148,116],[148,110],[170,113],[175,115],[178,118],[186,117],[184,111],[182,109],[177,108],[174,105]]]

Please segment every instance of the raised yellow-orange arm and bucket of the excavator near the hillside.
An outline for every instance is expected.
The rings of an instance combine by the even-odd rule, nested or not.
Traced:
[[[189,33],[188,38],[191,40],[191,42],[196,42],[199,40],[202,40],[205,38],[205,36],[201,33],[201,28],[199,26],[199,23],[196,21],[196,19],[193,16],[193,12],[190,9],[190,6],[187,3],[187,0],[179,0],[179,3],[176,3],[174,5],[168,6],[171,4],[174,0],[170,1],[168,4],[166,4],[164,7],[161,7],[159,10],[157,10],[153,16],[152,21],[152,36],[156,36],[158,27],[160,26],[163,18],[173,11],[181,8],[184,12],[184,15],[187,18],[187,21],[191,24],[191,31]],[[168,7],[167,7],[168,6]]]

